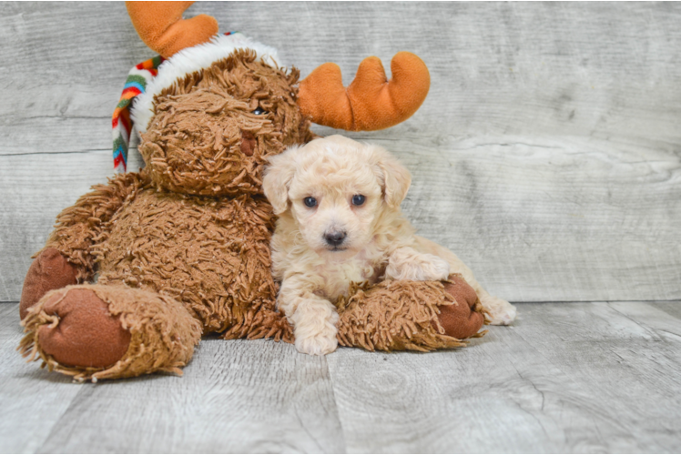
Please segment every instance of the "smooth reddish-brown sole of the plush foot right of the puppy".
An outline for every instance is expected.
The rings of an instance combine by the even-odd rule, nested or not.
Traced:
[[[473,337],[484,324],[484,315],[478,295],[461,275],[450,275],[450,283],[444,283],[444,291],[454,298],[454,305],[442,305],[440,324],[445,335],[455,339]]]

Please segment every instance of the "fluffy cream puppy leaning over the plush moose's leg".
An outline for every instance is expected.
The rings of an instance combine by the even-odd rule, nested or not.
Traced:
[[[412,177],[383,148],[330,136],[269,162],[263,187],[279,215],[272,238],[273,273],[281,281],[277,304],[300,352],[336,349],[338,314],[331,302],[353,281],[461,273],[493,324],[515,319],[515,308],[488,294],[451,251],[414,235],[400,211]]]

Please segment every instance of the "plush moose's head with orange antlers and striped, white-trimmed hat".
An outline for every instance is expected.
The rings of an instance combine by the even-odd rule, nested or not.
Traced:
[[[140,37],[163,57],[130,73],[114,114],[115,162],[125,170],[131,129],[125,109],[137,96],[132,120],[158,187],[258,194],[265,156],[310,141],[310,121],[353,131],[387,128],[412,116],[428,94],[428,68],[408,52],[393,57],[390,81],[381,61],[369,57],[348,87],[332,63],[299,84],[298,70],[282,69],[272,47],[238,33],[214,35],[217,24],[208,16],[183,20],[192,3],[127,2]]]

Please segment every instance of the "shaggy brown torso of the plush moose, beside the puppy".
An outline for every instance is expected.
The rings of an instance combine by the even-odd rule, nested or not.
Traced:
[[[206,332],[229,329],[229,338],[255,333],[289,337],[288,325],[278,324],[281,317],[274,311],[272,217],[271,206],[260,197],[139,191],[91,249],[98,283],[176,298]],[[269,312],[259,314],[265,309]]]

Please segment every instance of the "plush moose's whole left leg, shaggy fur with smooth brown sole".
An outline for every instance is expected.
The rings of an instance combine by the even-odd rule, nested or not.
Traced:
[[[177,300],[139,289],[68,286],[27,313],[22,353],[78,380],[181,374],[201,337]]]

